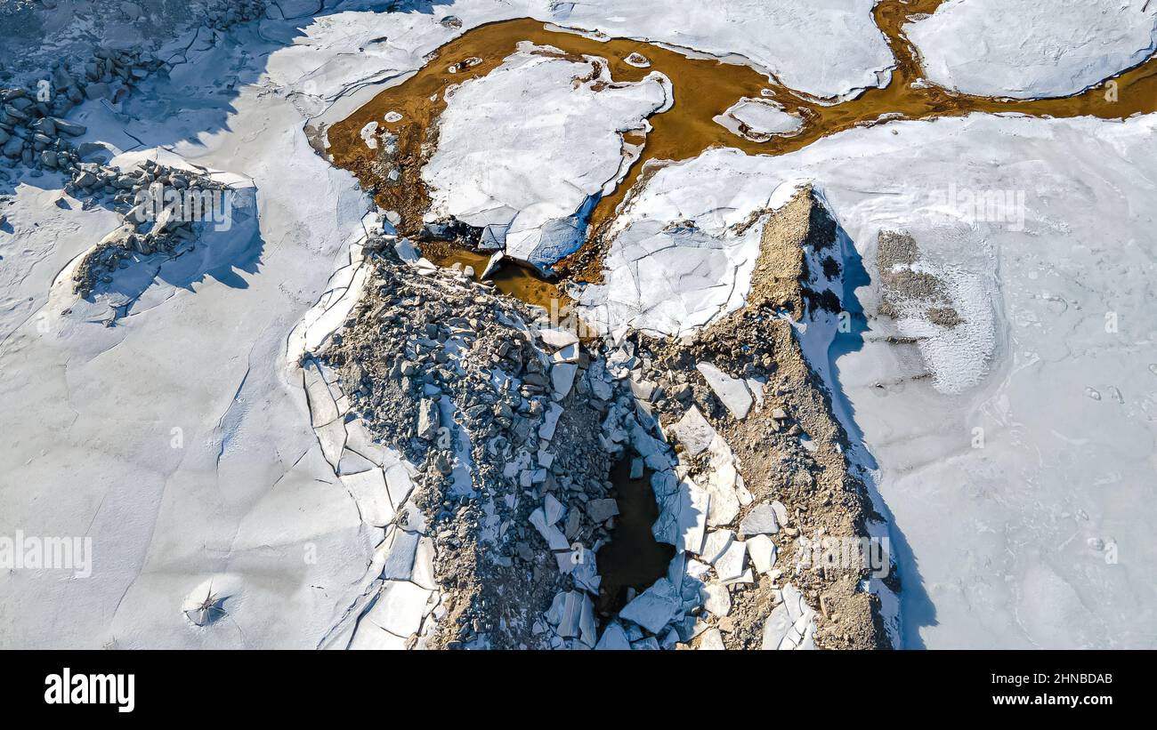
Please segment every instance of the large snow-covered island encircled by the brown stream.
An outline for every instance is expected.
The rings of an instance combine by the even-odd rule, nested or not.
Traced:
[[[590,77],[592,64],[544,52],[523,43],[492,73],[447,92],[422,180],[432,217],[506,228],[508,256],[547,268],[582,244],[589,210],[626,174],[633,157],[622,133],[646,128],[672,95],[657,72],[605,85],[605,61]]]

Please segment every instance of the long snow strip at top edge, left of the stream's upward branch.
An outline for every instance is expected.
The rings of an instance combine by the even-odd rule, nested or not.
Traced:
[[[403,12],[379,17],[362,16],[363,22],[351,23],[346,32],[364,32],[369,40],[377,37],[369,33],[392,30],[393,35],[378,45],[413,53],[426,49],[434,36],[442,36],[436,44],[441,45],[481,23],[533,17],[721,58],[745,58],[793,89],[824,98],[847,97],[865,88],[883,85],[894,62],[883,33],[872,21],[874,0],[720,0],[709,5],[662,0],[507,0],[501,3],[456,0],[400,5]],[[326,6],[334,10],[379,9],[381,2],[347,0]],[[439,21],[450,15],[462,21],[460,29],[440,24]],[[378,31],[371,31],[371,27]],[[813,42],[819,37],[824,43]],[[358,57],[337,59],[334,65],[362,66],[358,61]],[[413,68],[418,66],[420,64]]]

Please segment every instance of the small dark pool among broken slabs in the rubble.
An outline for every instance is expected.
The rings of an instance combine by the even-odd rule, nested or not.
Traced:
[[[666,575],[675,548],[655,541],[651,526],[658,519],[658,505],[650,487],[650,470],[642,478],[631,478],[631,460],[611,469],[612,494],[619,502],[611,542],[595,553],[603,582],[595,606],[599,613],[618,613],[627,604],[627,589],[642,593]]]

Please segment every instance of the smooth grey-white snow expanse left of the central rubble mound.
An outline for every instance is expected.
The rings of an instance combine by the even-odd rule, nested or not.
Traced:
[[[123,110],[76,114],[90,139],[128,148],[132,134],[250,177],[259,224],[214,244],[227,260],[176,260],[105,327],[108,313],[47,297],[112,215],[54,204],[53,176],[23,178],[6,209],[0,535],[90,537],[93,572],[8,575],[2,646],[314,647],[362,590],[382,530],[323,459],[285,352],[367,199],[310,149],[278,87],[250,85],[275,49],[256,30],[244,49],[194,43],[197,62]],[[198,627],[183,606],[202,593],[226,617]]]

